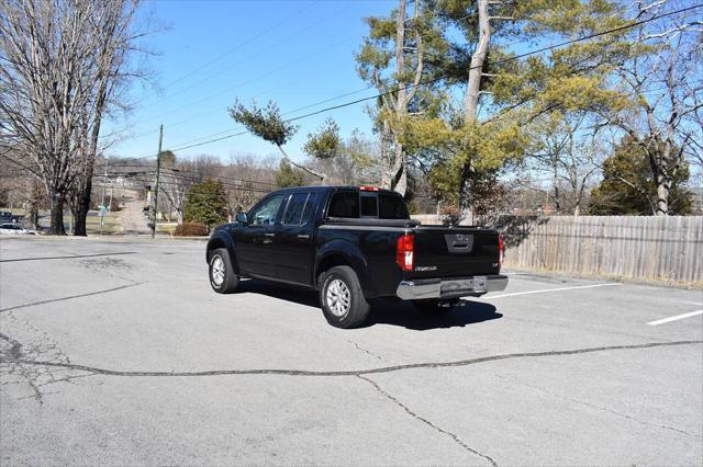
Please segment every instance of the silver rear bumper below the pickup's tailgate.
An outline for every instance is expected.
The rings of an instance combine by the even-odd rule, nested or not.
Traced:
[[[424,300],[428,298],[479,296],[487,292],[504,291],[505,287],[507,287],[507,276],[502,274],[453,278],[420,278],[401,281],[395,294],[403,300]]]

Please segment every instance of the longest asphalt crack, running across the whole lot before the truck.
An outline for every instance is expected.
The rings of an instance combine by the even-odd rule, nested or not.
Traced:
[[[107,369],[96,366],[78,365],[72,363],[63,362],[41,362],[34,360],[14,358],[0,354],[0,362],[9,361],[12,363],[25,364],[25,365],[38,365],[38,366],[54,366],[62,368],[77,369],[81,372],[90,372],[107,376],[223,376],[223,375],[282,375],[282,376],[361,376],[373,375],[380,373],[393,373],[403,369],[414,368],[444,368],[444,367],[462,367],[469,365],[476,365],[479,363],[494,362],[499,360],[512,360],[512,358],[537,358],[546,356],[560,356],[560,355],[578,355],[594,352],[607,352],[620,350],[634,350],[634,349],[651,349],[662,346],[676,346],[676,345],[691,345],[702,344],[703,341],[670,341],[670,342],[648,342],[643,344],[631,345],[609,345],[600,348],[587,348],[574,349],[565,351],[546,351],[546,352],[521,352],[521,353],[507,353],[492,356],[482,356],[478,358],[459,360],[453,362],[425,362],[425,363],[410,363],[405,365],[383,366],[378,368],[368,369],[352,369],[352,371],[310,371],[310,369],[212,369],[204,372],[138,372],[138,371],[119,371]]]

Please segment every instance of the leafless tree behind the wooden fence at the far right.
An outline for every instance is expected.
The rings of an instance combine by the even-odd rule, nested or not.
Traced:
[[[636,2],[636,18],[654,18],[671,0]],[[636,30],[636,42],[646,53],[617,68],[633,106],[609,124],[625,132],[647,155],[656,193],[656,214],[669,214],[672,180],[687,153],[696,155],[700,129],[690,124],[700,115],[703,101],[702,22],[695,11],[667,21],[654,21]],[[651,52],[650,52],[651,50]],[[696,133],[698,132],[698,133]],[[649,190],[644,187],[645,190]]]

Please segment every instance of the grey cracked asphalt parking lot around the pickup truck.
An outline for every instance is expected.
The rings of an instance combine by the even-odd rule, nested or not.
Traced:
[[[702,465],[703,293],[511,274],[431,319],[217,295],[204,243],[2,239],[2,465]]]

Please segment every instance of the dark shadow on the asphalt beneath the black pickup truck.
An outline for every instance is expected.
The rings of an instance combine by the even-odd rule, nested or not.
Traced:
[[[239,284],[239,293],[266,295],[267,297],[312,307],[315,308],[316,312],[322,314],[316,292],[246,280]],[[369,318],[361,328],[384,324],[399,326],[414,331],[427,331],[431,329],[461,328],[502,317],[503,315],[498,312],[493,305],[468,299],[461,300],[460,306],[454,307],[446,315],[440,316],[421,314],[412,304],[405,301],[375,299],[371,301]]]

